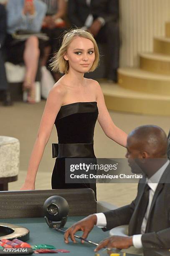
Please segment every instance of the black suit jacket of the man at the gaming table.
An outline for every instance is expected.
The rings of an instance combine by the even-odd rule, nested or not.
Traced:
[[[104,212],[107,219],[107,227],[103,228],[104,231],[119,225],[129,225],[129,236],[137,234],[139,204],[145,188],[145,183],[142,182],[145,182],[145,178],[139,182],[137,197],[130,205]],[[170,248],[170,164],[157,185],[146,231],[142,235],[142,245],[144,249]]]

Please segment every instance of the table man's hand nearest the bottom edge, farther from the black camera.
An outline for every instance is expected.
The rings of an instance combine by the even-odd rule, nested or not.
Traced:
[[[111,236],[101,241],[94,251],[99,251],[104,247],[125,249],[130,246],[133,246],[132,236]]]

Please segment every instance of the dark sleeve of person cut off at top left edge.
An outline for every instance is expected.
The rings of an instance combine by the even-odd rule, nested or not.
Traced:
[[[4,44],[6,36],[6,11],[3,5],[0,5],[0,48]]]

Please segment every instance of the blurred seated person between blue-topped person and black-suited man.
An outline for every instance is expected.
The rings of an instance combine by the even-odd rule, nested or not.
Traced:
[[[42,32],[46,33],[49,41],[46,42],[44,49],[44,57],[41,62],[42,66],[47,66],[53,54],[60,48],[60,38],[64,30],[66,30],[66,15],[67,0],[41,0],[47,5],[46,17],[43,20]],[[53,73],[54,79],[57,81],[61,75]]]

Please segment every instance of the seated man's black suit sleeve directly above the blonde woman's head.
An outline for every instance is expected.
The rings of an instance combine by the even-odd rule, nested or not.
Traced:
[[[71,25],[82,27],[84,26],[84,23],[79,19],[79,15],[77,15],[76,11],[77,11],[76,0],[69,0],[68,1],[68,17],[71,22]]]

